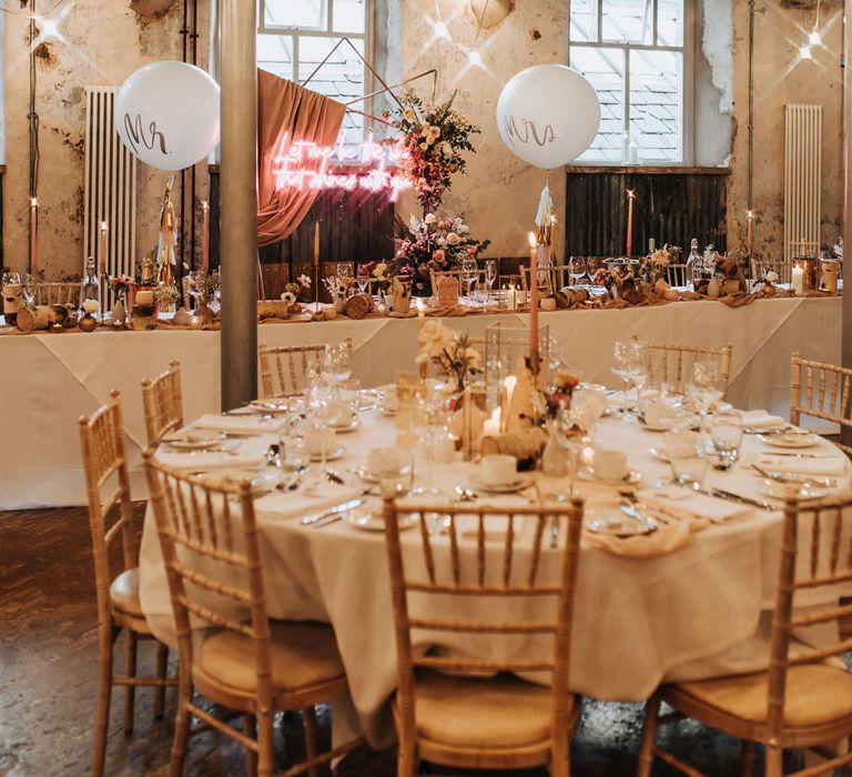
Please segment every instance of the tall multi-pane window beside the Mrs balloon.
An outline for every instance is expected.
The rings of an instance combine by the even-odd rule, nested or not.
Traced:
[[[568,63],[589,79],[601,107],[600,130],[580,162],[690,161],[692,6],[569,0]]]

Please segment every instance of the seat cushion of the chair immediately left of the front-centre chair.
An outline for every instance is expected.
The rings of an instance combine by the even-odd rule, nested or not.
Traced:
[[[320,623],[270,623],[272,685],[276,693],[323,685],[345,677],[331,626]],[[254,642],[236,632],[207,637],[197,652],[199,669],[236,690],[255,692]]]

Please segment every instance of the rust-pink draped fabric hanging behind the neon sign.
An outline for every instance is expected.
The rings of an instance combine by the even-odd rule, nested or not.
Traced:
[[[345,105],[264,70],[257,71],[257,245],[295,232],[318,190],[278,189],[275,170],[293,141],[331,148],[337,141]],[[276,161],[278,160],[278,161]],[[298,168],[315,172],[323,160],[304,159]]]

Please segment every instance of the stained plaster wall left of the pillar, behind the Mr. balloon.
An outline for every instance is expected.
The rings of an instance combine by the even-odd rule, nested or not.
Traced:
[[[79,272],[83,262],[84,88],[120,84],[148,62],[181,59],[181,3],[159,0],[148,6],[155,13],[162,12],[161,16],[142,18],[131,10],[129,0],[63,3],[53,16],[59,20],[60,34],[39,47],[39,265],[48,278]],[[206,9],[207,3],[199,3],[202,68],[207,59]],[[3,16],[6,31],[0,40],[6,64],[4,259],[7,265],[22,270],[29,241],[29,23],[19,16]],[[201,200],[206,198],[206,174],[203,165],[199,170]],[[160,200],[168,175],[139,163],[138,176],[136,249],[141,256],[156,245]]]

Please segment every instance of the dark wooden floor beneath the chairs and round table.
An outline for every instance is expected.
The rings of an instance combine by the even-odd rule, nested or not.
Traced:
[[[0,513],[0,777],[87,775],[94,722],[97,620],[83,509]],[[144,656],[143,667],[151,666],[150,658]],[[113,697],[106,774],[168,774],[173,696],[169,696],[165,719],[154,720],[151,690],[140,689],[135,729],[125,735],[121,693]],[[641,705],[586,702],[572,747],[572,773],[632,775],[641,715]],[[327,737],[327,714],[321,720]],[[281,718],[276,767],[300,757],[301,736],[297,715]],[[689,754],[707,774],[738,774],[734,740],[692,722],[678,724],[668,736],[669,748]],[[338,775],[390,777],[395,764],[393,750],[365,748],[351,754]],[[242,749],[219,735],[195,737],[185,774],[241,775]],[[655,775],[669,774],[657,765]]]

